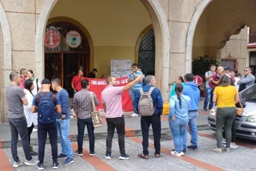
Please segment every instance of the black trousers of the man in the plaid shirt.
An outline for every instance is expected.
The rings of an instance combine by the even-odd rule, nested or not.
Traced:
[[[90,144],[90,152],[94,152],[94,127],[92,124],[92,117],[86,119],[77,118],[77,145],[78,152],[83,152],[83,142],[84,142],[84,129],[87,127],[88,136],[89,136],[89,144]]]

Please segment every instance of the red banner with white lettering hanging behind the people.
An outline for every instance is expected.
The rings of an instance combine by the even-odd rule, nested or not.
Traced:
[[[103,109],[103,105],[101,103],[101,92],[107,87],[107,82],[105,79],[90,79],[86,78],[90,81],[90,91],[94,92],[99,99],[99,106],[97,106],[97,111]],[[127,85],[127,77],[116,78],[117,86],[125,86]],[[133,111],[131,97],[129,95],[129,91],[125,91],[122,94],[122,106],[124,111]]]

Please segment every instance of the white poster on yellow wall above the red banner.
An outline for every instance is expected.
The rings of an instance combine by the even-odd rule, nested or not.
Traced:
[[[111,75],[120,78],[131,73],[131,60],[111,60]]]

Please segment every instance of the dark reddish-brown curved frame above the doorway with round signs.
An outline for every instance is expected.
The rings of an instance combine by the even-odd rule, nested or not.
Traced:
[[[89,60],[90,60],[90,66],[92,66],[93,62],[94,62],[94,45],[92,42],[92,36],[90,36],[89,31],[86,29],[86,27],[84,27],[84,25],[82,25],[81,23],[79,23],[78,21],[76,21],[73,18],[69,18],[66,16],[57,16],[54,18],[49,18],[47,25],[50,25],[52,23],[56,23],[56,22],[68,22],[71,23],[75,26],[77,26],[79,29],[81,29],[81,31],[83,31],[84,35],[86,36],[87,40],[88,40],[88,44],[89,44],[89,48],[90,48],[90,56],[89,56]],[[92,68],[90,68],[91,70]]]

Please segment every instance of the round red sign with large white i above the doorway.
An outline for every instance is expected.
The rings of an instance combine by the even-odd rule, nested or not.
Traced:
[[[60,44],[61,35],[56,29],[51,29],[44,34],[44,46],[53,49]]]

